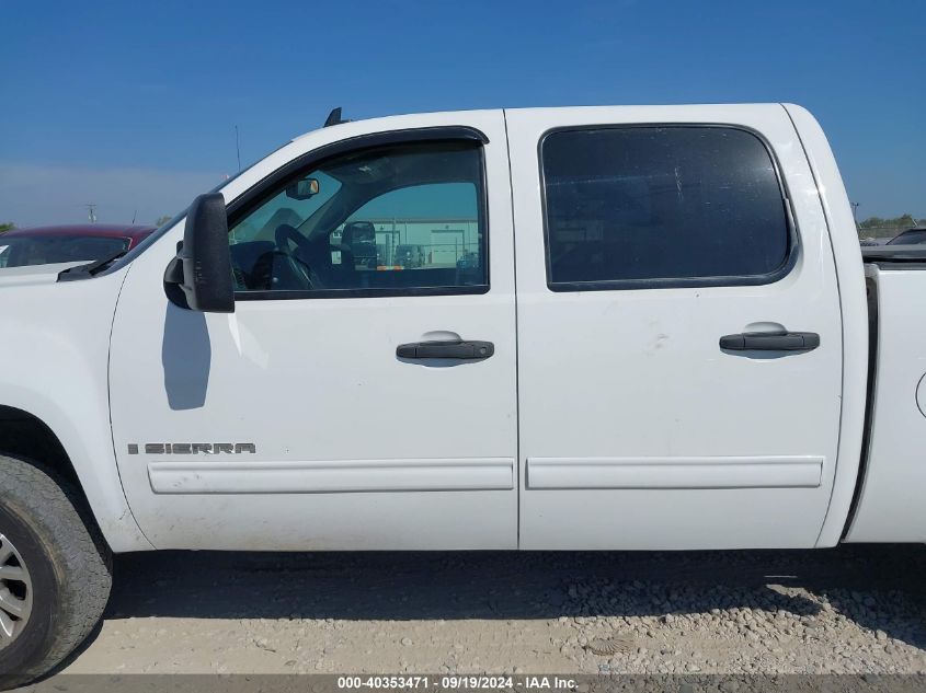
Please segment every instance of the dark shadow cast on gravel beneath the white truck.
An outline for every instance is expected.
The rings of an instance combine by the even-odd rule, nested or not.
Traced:
[[[926,546],[919,545],[685,553],[157,552],[116,558],[106,619],[555,619],[733,608],[813,616],[825,598],[859,626],[926,649],[924,575]]]

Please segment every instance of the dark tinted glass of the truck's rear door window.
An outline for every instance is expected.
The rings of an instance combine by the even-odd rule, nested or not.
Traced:
[[[555,131],[544,139],[541,159],[552,289],[641,280],[758,284],[788,259],[776,169],[750,132],[705,126]]]

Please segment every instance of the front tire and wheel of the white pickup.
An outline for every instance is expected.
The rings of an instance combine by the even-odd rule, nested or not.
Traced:
[[[48,673],[90,634],[110,597],[112,555],[70,483],[4,455],[0,536],[3,690]]]

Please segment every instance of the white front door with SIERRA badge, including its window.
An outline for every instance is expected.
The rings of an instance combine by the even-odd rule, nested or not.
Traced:
[[[226,194],[233,314],[165,299],[182,228],[133,263],[112,418],[157,547],[516,546],[504,123],[465,119],[340,126],[245,174]],[[428,247],[448,228],[475,262]],[[399,244],[423,262],[387,265]]]

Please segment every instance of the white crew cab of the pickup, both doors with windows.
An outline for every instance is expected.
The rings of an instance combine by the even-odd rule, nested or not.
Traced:
[[[220,193],[228,312],[161,289],[182,223],[123,261],[110,396],[133,516],[158,548],[816,545],[841,443],[860,446],[844,301],[865,286],[796,141],[780,105],[296,140]],[[430,219],[430,262],[350,262],[382,216]],[[491,356],[457,357],[475,343]]]

